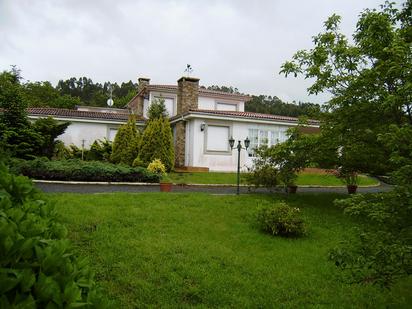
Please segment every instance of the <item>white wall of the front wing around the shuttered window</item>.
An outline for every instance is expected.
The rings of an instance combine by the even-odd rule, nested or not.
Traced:
[[[206,124],[205,131],[200,130],[202,123]],[[235,139],[235,147],[238,140],[242,141],[248,137],[249,128],[262,130],[277,130],[285,134],[290,127],[288,125],[270,125],[259,124],[254,122],[238,122],[229,120],[203,120],[191,119],[186,124],[186,165],[196,167],[208,167],[210,171],[236,171],[237,170],[237,150],[228,151],[227,153],[208,153],[205,150],[205,138],[209,133],[208,125],[223,125],[230,127],[230,135]],[[226,139],[225,136],[213,136],[211,139]],[[229,144],[229,143],[228,143]],[[246,171],[247,167],[253,165],[253,157],[249,157],[245,150],[240,154],[240,166],[242,171]]]

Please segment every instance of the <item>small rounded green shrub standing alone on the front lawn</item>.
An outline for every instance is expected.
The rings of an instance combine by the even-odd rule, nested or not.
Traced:
[[[304,220],[299,208],[286,203],[265,205],[259,209],[257,222],[262,231],[279,236],[301,236],[305,234]]]

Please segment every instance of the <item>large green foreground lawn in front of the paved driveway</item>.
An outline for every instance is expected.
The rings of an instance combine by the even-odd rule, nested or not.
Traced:
[[[411,281],[392,291],[348,285],[328,261],[355,226],[336,197],[344,196],[50,195],[113,308],[406,308]],[[307,236],[255,227],[260,201],[284,198],[302,209]]]

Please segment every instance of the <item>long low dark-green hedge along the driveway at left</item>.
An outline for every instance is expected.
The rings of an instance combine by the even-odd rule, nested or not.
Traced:
[[[63,160],[49,161],[38,158],[32,161],[14,160],[12,170],[39,180],[73,181],[128,181],[158,182],[159,176],[144,168],[132,168],[99,161]]]

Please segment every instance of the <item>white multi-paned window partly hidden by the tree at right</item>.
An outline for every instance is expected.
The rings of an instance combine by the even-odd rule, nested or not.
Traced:
[[[250,146],[249,157],[255,156],[256,148],[266,145],[268,147],[287,140],[286,132],[279,130],[249,129]]]

